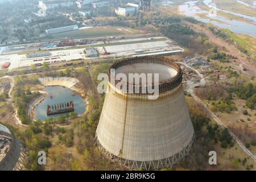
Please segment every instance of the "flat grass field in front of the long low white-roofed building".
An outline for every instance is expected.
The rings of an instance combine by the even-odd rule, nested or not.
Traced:
[[[54,38],[86,38],[93,36],[108,36],[108,35],[130,35],[140,34],[141,31],[132,28],[122,27],[93,27],[84,30],[76,30],[70,32],[63,32],[52,35]]]

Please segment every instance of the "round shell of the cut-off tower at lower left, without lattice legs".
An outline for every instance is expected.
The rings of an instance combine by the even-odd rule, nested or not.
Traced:
[[[0,171],[16,169],[20,157],[20,143],[6,126],[0,124]]]

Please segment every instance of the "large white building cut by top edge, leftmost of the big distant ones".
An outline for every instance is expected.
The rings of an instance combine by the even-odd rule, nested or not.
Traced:
[[[39,1],[39,6],[45,6],[47,10],[52,10],[57,7],[70,7],[74,6],[75,1],[73,0],[42,0]]]

